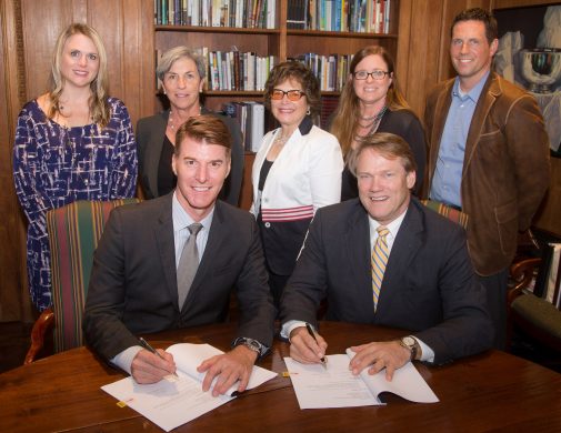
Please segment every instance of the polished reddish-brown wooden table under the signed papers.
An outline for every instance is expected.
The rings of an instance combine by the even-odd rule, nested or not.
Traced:
[[[352,344],[390,340],[403,331],[322,322],[328,354]],[[177,342],[228,350],[233,324],[172,331],[148,338],[158,348]],[[283,372],[289,345],[276,341],[260,365]],[[191,421],[180,432],[560,432],[561,374],[507,353],[490,351],[443,366],[415,363],[440,399],[415,404],[388,395],[385,406],[300,410],[290,379],[277,376]],[[0,374],[2,432],[157,432],[157,425],[100,390],[123,374],[87,348],[63,352]]]

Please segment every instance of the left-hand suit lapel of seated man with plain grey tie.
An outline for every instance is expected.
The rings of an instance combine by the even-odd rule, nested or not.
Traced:
[[[179,310],[178,305],[178,282],[176,270],[176,242],[173,240],[173,218],[171,211],[171,200],[173,193],[167,195],[168,200],[164,209],[162,209],[158,219],[158,224],[154,229],[156,242],[160,252],[160,260],[166,278],[166,285],[170,292],[170,298],[173,304]]]

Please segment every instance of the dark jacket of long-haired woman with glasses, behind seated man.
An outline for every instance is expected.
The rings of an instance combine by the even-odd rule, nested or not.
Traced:
[[[417,115],[407,109],[387,110],[375,132],[391,132],[408,142],[417,162],[414,192],[419,194],[421,192],[427,165],[427,142],[424,140],[423,127]],[[341,182],[341,201],[354,199],[357,197],[359,197],[357,178],[349,171],[349,167],[345,164]]]

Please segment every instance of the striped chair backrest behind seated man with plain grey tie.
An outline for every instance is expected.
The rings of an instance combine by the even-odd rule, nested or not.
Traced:
[[[139,201],[77,201],[47,212],[51,250],[54,352],[83,345],[82,312],[93,252],[111,211]]]

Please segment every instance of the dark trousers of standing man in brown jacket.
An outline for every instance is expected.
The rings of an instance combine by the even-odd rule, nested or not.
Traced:
[[[489,276],[478,275],[485,288],[489,315],[494,325],[494,348],[505,350],[507,345],[507,283],[509,270]]]

